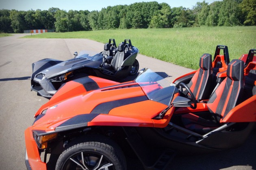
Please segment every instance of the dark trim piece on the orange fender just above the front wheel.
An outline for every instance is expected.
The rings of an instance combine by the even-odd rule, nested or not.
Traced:
[[[76,115],[58,127],[55,127],[55,131],[63,131],[63,130],[71,130],[71,129],[76,129],[79,127],[85,127],[87,126],[87,123],[90,122],[92,119],[94,119],[96,116],[99,114],[82,114],[82,115]]]

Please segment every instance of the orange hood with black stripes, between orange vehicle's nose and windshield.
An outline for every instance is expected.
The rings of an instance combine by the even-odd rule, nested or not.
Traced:
[[[43,114],[39,114],[33,129],[51,132],[79,125],[153,127],[152,118],[166,107],[148,100],[137,83],[121,83],[86,91],[60,102],[50,100],[39,109],[38,114]]]

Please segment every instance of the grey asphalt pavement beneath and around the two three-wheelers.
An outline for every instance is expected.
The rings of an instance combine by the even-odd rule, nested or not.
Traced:
[[[25,39],[20,38],[22,36],[24,34],[0,38],[0,170],[26,169],[24,130],[33,123],[37,109],[48,101],[30,91],[31,64],[44,58],[68,60],[75,51],[103,50],[102,43],[88,39]],[[150,68],[170,82],[192,71],[144,55],[138,55],[137,60],[140,68]],[[237,149],[176,157],[169,169],[256,169],[256,132]]]

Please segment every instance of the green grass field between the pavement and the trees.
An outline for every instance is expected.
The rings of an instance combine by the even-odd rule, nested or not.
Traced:
[[[214,55],[216,45],[228,46],[230,61],[256,49],[256,26],[100,30],[43,33],[25,38],[88,38],[102,43],[115,38],[117,44],[129,38],[143,55],[197,69],[200,56]]]

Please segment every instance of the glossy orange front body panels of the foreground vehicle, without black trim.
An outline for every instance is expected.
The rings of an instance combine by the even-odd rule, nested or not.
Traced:
[[[46,113],[38,119],[32,126],[25,131],[26,149],[28,152],[28,161],[31,167],[37,169],[46,169],[46,164],[40,159],[37,144],[33,138],[33,130],[42,130],[43,132],[55,132],[55,128],[68,119],[81,114],[90,114],[90,112],[103,102],[121,100],[125,98],[134,98],[145,96],[143,90],[149,92],[159,89],[158,84],[144,86],[143,89],[137,83],[131,81],[126,83],[117,83],[107,81],[107,85],[116,85],[104,87],[104,79],[90,77],[94,79],[100,89],[86,91],[83,85],[70,81],[66,83],[49,100],[48,103],[41,106],[35,114],[41,114],[43,110]],[[102,82],[102,84],[100,84]],[[128,86],[126,88],[122,88]],[[70,89],[70,90],[68,90]],[[178,96],[178,94],[175,94]],[[87,123],[87,126],[136,126],[136,127],[165,127],[171,119],[174,108],[171,107],[165,117],[161,120],[154,120],[167,106],[152,100],[144,100],[119,107],[115,107],[108,114],[100,114]]]

